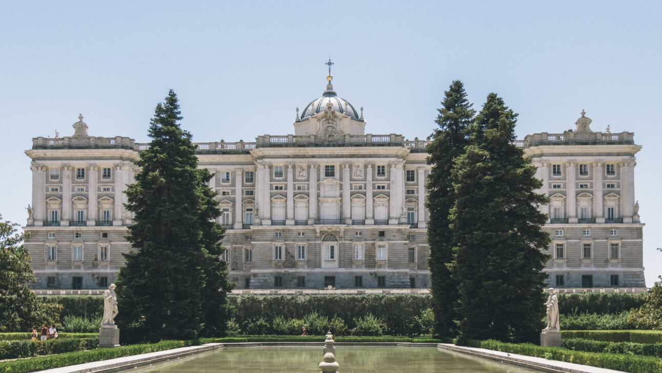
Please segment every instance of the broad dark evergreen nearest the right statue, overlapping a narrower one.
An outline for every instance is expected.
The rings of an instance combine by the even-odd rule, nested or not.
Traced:
[[[451,173],[455,240],[451,273],[458,282],[460,336],[535,342],[542,329],[549,256],[548,202],[536,193],[536,168],[512,144],[517,114],[495,93],[471,127],[471,142]]]

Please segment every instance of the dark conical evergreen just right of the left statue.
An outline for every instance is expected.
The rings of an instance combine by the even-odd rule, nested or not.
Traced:
[[[134,213],[117,293],[118,324],[129,340],[193,339],[205,331],[222,333],[227,282],[218,257],[224,229],[216,193],[205,186],[211,174],[197,168],[191,134],[179,126],[177,95],[170,91],[150,122],[150,147],[142,168],[127,187],[126,208]],[[208,309],[207,307],[218,307]],[[206,326],[206,324],[209,324]]]

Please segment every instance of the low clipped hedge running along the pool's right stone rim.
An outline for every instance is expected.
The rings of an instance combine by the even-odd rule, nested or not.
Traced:
[[[662,360],[651,356],[630,354],[608,354],[604,352],[584,352],[560,347],[542,347],[530,343],[503,343],[489,339],[487,341],[467,341],[471,347],[487,348],[512,354],[536,356],[548,360],[559,360],[596,366],[598,368],[622,370],[633,373],[662,372]]]

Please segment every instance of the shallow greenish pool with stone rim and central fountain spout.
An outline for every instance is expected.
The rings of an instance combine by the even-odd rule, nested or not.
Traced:
[[[318,373],[322,346],[224,347],[124,372]],[[339,373],[536,372],[435,347],[338,346]]]

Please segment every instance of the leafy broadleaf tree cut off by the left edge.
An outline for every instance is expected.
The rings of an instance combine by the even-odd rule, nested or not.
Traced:
[[[31,327],[58,321],[62,306],[44,303],[30,292],[32,259],[18,234],[18,224],[0,215],[0,331],[29,331]]]

